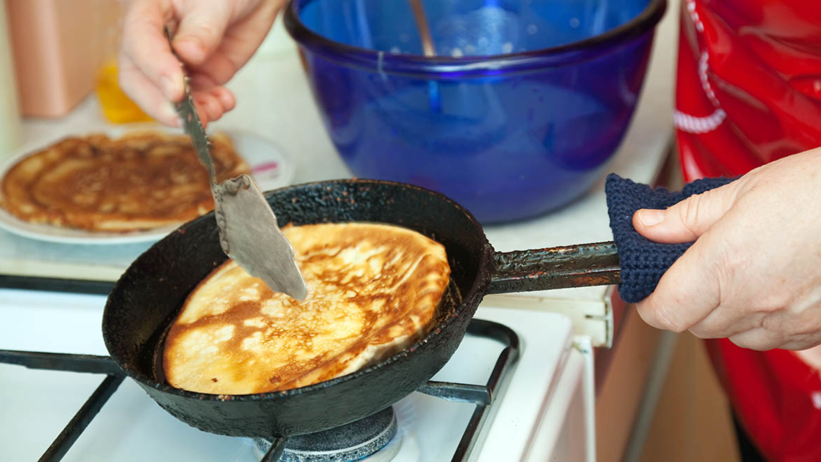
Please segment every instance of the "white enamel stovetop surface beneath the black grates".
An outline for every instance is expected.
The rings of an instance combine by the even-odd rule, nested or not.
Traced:
[[[102,295],[0,289],[0,350],[106,355],[100,331],[104,301]],[[497,396],[497,413],[488,419],[477,460],[523,460],[526,451],[541,447],[538,441],[559,441],[569,405],[562,392],[568,373],[562,371],[571,355],[571,322],[555,313],[489,306],[480,307],[476,318],[502,322],[522,343],[521,358],[507,389]],[[433,378],[484,383],[501,349],[495,341],[467,336]],[[36,460],[102,380],[95,374],[0,364],[0,460]],[[451,460],[474,408],[414,393],[395,409],[404,437],[394,461],[438,462]],[[254,460],[249,440],[200,432],[179,422],[126,378],[64,460],[146,459]]]

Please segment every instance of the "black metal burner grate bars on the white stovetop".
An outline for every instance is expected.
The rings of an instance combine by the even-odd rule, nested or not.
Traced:
[[[468,459],[470,451],[474,449],[482,434],[482,428],[492,409],[493,400],[501,390],[511,366],[519,356],[519,337],[516,336],[516,332],[498,322],[473,319],[470,321],[467,333],[490,338],[505,345],[488,377],[488,382],[484,385],[472,385],[431,381],[417,390],[420,393],[436,396],[443,400],[475,405],[476,409],[470,417],[470,422],[467,424],[461,441],[459,441],[459,446],[456,447],[452,462],[464,462]],[[33,369],[106,374],[103,382],[89,396],[89,399],[80,407],[80,410],[77,411],[77,414],[67,424],[66,428],[40,457],[41,462],[62,460],[62,457],[71,449],[71,445],[80,437],[80,434],[88,427],[108,398],[114,394],[114,391],[117,391],[117,387],[125,378],[122,370],[117,368],[117,365],[108,356],[0,350],[0,363],[17,364]],[[279,460],[282,451],[285,450],[287,441],[287,437],[275,438],[263,461],[275,462]]]

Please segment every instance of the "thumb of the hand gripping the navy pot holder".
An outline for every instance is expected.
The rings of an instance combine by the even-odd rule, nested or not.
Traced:
[[[642,208],[633,214],[640,235],[663,244],[692,242],[727,213],[736,200],[736,182],[691,195],[666,210]]]

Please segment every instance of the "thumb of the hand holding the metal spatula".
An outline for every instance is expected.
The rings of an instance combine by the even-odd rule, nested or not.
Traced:
[[[230,11],[228,2],[188,2],[174,34],[174,49],[183,61],[192,65],[205,62],[222,42]]]

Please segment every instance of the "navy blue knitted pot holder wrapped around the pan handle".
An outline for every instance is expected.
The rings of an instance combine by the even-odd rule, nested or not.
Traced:
[[[664,272],[693,243],[658,244],[641,236],[633,228],[633,213],[640,208],[667,208],[693,194],[727,185],[735,178],[705,178],[684,186],[680,192],[652,189],[611,173],[604,191],[608,197],[610,229],[616,242],[621,284],[621,300],[637,303],[653,293]]]

